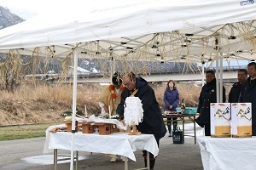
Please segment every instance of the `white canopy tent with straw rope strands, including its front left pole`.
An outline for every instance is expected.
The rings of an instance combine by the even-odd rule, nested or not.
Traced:
[[[69,8],[61,3],[70,3]],[[221,59],[255,59],[253,1],[61,3],[56,11],[1,30],[0,53],[15,49],[32,55],[40,48],[42,56],[74,54],[73,122],[79,56],[201,63],[213,62],[219,54]]]

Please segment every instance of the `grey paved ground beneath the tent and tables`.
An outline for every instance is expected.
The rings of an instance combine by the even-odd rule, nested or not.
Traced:
[[[193,134],[192,124],[186,125],[186,134]],[[197,135],[202,135],[201,127]],[[50,170],[54,169],[53,155],[44,155],[45,138],[19,139],[0,142],[1,170]],[[59,151],[59,150],[58,150]],[[69,151],[61,150],[63,154]],[[135,152],[137,161],[129,161],[129,169],[143,167],[142,152]],[[123,162],[110,162],[103,154],[79,152],[79,169],[88,170],[119,170],[124,169]],[[69,162],[58,164],[58,169],[70,169]],[[172,144],[172,138],[160,139],[160,153],[155,163],[155,170],[202,170],[201,154],[194,138],[185,137],[184,144]]]

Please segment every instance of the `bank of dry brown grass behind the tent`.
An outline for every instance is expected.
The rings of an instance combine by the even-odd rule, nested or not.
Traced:
[[[162,111],[164,111],[163,94],[166,82],[152,85]],[[77,108],[88,114],[99,114],[97,99],[104,86],[99,84],[81,84],[78,86]],[[177,84],[180,99],[186,106],[197,106],[201,87],[192,84]],[[17,124],[34,124],[45,122],[63,122],[61,114],[72,111],[73,87],[71,85],[41,85],[39,87],[21,86],[15,94],[0,91],[0,126]]]

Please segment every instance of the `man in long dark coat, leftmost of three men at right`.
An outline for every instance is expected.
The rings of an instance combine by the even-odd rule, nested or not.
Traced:
[[[207,71],[206,79],[207,83],[201,88],[197,108],[197,113],[200,113],[200,116],[195,120],[195,122],[197,122],[197,124],[199,124],[201,127],[205,127],[206,136],[211,136],[210,103],[217,102],[215,72]],[[225,88],[223,87],[223,102],[225,101]]]

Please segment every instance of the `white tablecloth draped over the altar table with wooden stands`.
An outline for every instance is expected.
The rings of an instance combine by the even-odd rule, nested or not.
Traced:
[[[71,150],[72,133],[46,133],[44,153],[49,149]],[[74,133],[74,150],[129,157],[136,161],[134,151],[148,150],[154,156],[159,148],[152,134],[128,135],[127,133],[112,133],[99,135],[98,133]]]

